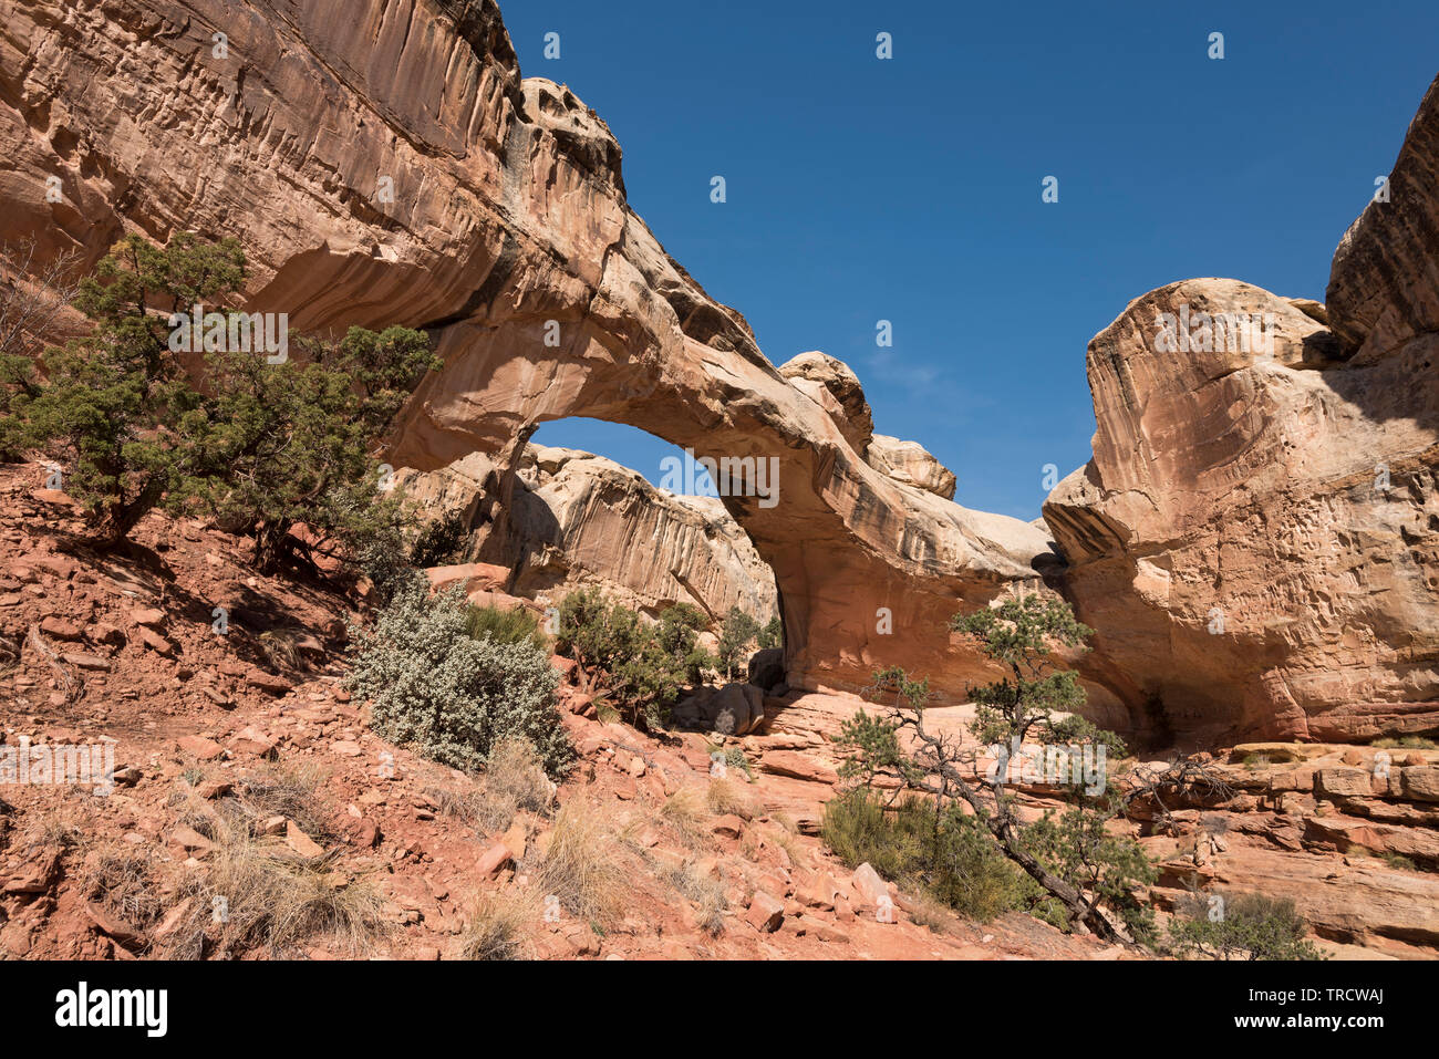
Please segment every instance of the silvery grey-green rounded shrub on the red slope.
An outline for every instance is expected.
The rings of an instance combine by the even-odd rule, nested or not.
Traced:
[[[409,577],[354,630],[347,686],[367,699],[376,731],[455,768],[476,770],[505,737],[528,740],[557,777],[574,757],[555,709],[558,673],[532,643],[472,639],[459,588],[429,594]]]

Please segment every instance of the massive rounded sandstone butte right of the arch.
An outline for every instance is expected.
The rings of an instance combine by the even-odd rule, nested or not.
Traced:
[[[1261,329],[1248,350],[1206,344],[1197,314]],[[1164,321],[1186,317],[1179,348]],[[1150,292],[1094,338],[1094,459],[1045,521],[1099,630],[1085,671],[1135,727],[1347,741],[1439,724],[1435,354],[1340,360],[1312,315],[1226,279]]]

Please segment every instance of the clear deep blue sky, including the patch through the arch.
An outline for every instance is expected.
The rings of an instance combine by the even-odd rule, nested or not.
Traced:
[[[771,361],[846,361],[876,430],[935,453],[958,502],[1020,518],[1043,465],[1091,455],[1089,338],[1190,276],[1322,299],[1439,71],[1432,0],[501,9],[525,76],[609,122],[630,204]],[[652,481],[673,452],[590,420],[535,440]]]

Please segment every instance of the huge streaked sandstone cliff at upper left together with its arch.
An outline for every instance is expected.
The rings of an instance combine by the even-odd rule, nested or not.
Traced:
[[[577,414],[773,458],[777,502],[725,508],[776,571],[791,682],[899,663],[961,694],[991,673],[945,619],[1038,584],[1048,535],[871,468],[862,420],[791,386],[629,209],[604,122],[521,79],[492,0],[0,12],[4,235],[88,263],[122,230],[236,235],[250,311],[430,329],[445,368],[397,424],[396,466],[512,469],[535,424]]]

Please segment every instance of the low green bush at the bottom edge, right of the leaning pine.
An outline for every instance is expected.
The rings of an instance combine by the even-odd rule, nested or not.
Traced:
[[[1324,960],[1292,898],[1196,894],[1170,921],[1168,948],[1207,960]]]

